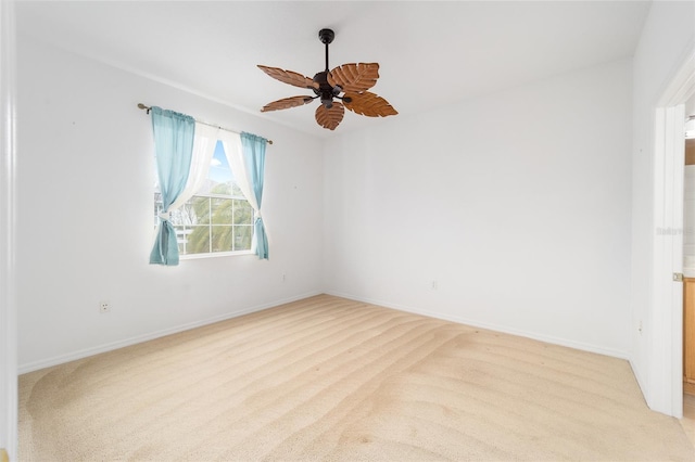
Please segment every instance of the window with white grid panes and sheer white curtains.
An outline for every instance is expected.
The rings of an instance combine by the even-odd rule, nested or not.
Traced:
[[[155,227],[161,211],[162,194],[155,179]],[[204,185],[186,204],[170,211],[169,222],[176,230],[181,256],[251,251],[253,207],[235,182],[222,141],[215,145]]]

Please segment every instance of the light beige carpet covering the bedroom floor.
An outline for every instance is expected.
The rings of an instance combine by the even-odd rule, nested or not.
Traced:
[[[627,361],[321,295],[20,377],[20,460],[693,461]]]

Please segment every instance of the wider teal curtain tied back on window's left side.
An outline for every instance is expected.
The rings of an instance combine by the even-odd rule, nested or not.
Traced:
[[[191,169],[195,120],[191,116],[152,107],[156,170],[162,191],[162,213],[150,264],[178,265],[176,230],[169,222],[169,206],[186,188]]]

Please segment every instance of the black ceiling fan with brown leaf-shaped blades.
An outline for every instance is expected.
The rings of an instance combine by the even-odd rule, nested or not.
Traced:
[[[316,121],[329,130],[334,130],[342,121],[345,107],[368,117],[397,114],[387,100],[367,91],[377,84],[379,78],[378,63],[350,63],[328,70],[328,44],[334,37],[336,34],[331,29],[318,31],[318,38],[326,44],[326,70],[316,74],[313,79],[292,70],[258,64],[264,73],[283,84],[314,91],[313,97],[291,97],[274,101],[263,106],[261,112],[298,107],[320,98],[321,105],[316,108]],[[343,93],[342,97],[341,93]],[[340,101],[333,101],[333,99]]]

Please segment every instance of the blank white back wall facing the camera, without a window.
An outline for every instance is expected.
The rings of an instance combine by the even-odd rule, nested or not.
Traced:
[[[620,61],[330,140],[328,292],[629,357],[630,111]]]

